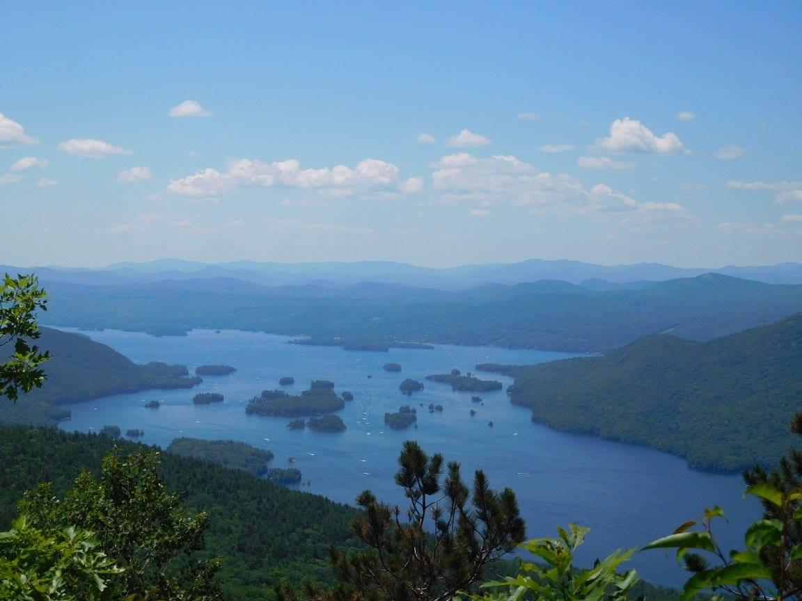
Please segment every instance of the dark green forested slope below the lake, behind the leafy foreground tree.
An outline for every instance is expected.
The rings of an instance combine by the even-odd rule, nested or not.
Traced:
[[[0,426],[0,530],[14,516],[25,490],[54,482],[70,486],[80,470],[97,472],[114,447],[136,443],[52,428]],[[288,490],[240,470],[164,453],[161,475],[180,491],[184,506],[209,513],[204,557],[223,558],[218,579],[228,599],[266,599],[279,582],[330,582],[331,544],[353,547],[349,524],[356,510],[314,494]]]

